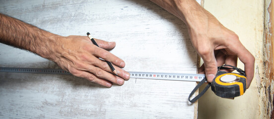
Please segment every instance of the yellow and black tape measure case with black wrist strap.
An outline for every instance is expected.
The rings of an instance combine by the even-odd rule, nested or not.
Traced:
[[[228,66],[228,67],[227,67]],[[227,73],[220,71],[220,69],[235,69],[239,73]],[[203,96],[207,89],[211,86],[211,90],[219,97],[222,98],[234,98],[241,96],[246,91],[246,74],[245,71],[232,65],[222,65],[218,67],[216,77],[211,83],[208,83],[205,89],[190,100],[191,96],[199,89],[199,87],[206,82],[206,77],[193,89],[189,95],[189,101],[191,103],[196,102],[201,96]]]

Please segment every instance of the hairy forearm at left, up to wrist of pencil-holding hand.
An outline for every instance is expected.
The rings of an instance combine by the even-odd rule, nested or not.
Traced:
[[[25,49],[51,59],[61,36],[0,13],[0,43]]]

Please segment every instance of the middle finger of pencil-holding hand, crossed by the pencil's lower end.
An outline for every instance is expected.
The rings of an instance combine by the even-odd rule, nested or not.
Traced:
[[[113,71],[111,70],[110,66],[108,65],[108,63],[106,61],[97,59],[96,61],[93,61],[93,62],[94,62],[93,65],[95,65],[97,67],[100,67],[101,69],[103,69],[105,71],[113,73]],[[116,65],[113,65],[113,67],[115,68],[118,76],[120,76],[120,77],[122,77],[126,80],[130,79],[130,73],[129,72],[123,70],[122,68],[120,68]]]

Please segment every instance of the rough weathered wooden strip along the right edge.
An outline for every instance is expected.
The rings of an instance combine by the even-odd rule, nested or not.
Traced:
[[[265,43],[264,43],[264,78],[258,84],[266,90],[266,94],[261,96],[263,100],[263,116],[274,119],[274,1],[265,1]],[[262,108],[261,108],[262,109]]]

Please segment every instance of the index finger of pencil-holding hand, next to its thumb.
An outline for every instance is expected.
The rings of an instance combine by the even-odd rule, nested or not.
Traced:
[[[107,61],[110,61],[112,62],[114,65],[117,65],[119,67],[125,67],[125,61],[124,60],[121,60],[120,58],[118,58],[117,56],[113,55],[112,53],[104,50],[104,49],[101,49],[101,48],[96,48],[96,47],[93,47],[94,48],[94,52],[93,52],[93,55],[98,57],[98,58],[101,58],[101,59],[104,59],[104,60],[107,60]],[[91,51],[92,52],[92,51]]]

